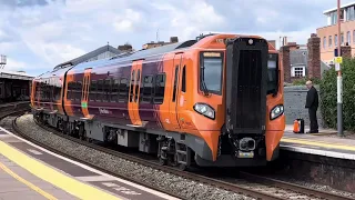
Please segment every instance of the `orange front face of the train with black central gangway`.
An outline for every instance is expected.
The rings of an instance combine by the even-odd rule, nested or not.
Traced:
[[[221,38],[213,40],[221,41]],[[196,123],[206,143],[203,154],[195,154],[195,162],[206,167],[265,166],[278,157],[285,128],[281,59],[274,47],[258,37],[222,40],[226,49],[222,54],[213,50],[200,53],[201,57],[225,56],[220,96],[199,99],[207,104],[204,110],[216,108],[216,116],[214,122]],[[206,67],[203,59],[200,62],[201,74]],[[216,73],[213,78],[219,80]],[[211,93],[206,79],[200,76],[202,93]],[[199,112],[199,109],[202,107],[195,110]]]

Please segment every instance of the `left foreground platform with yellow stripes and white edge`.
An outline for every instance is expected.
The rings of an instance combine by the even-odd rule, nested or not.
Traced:
[[[0,127],[0,200],[175,199],[63,158]]]

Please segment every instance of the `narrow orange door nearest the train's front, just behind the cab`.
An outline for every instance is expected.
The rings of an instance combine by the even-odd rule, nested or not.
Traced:
[[[173,68],[172,68],[172,97],[170,102],[170,124],[172,129],[180,129],[179,120],[178,120],[178,93],[179,93],[179,83],[180,83],[180,71],[181,71],[181,60],[182,53],[175,54],[173,60]]]

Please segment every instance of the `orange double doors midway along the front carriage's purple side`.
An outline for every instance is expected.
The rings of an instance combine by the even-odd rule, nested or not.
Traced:
[[[130,96],[129,96],[129,114],[132,124],[142,126],[139,113],[140,88],[142,80],[142,60],[133,61],[131,69]]]

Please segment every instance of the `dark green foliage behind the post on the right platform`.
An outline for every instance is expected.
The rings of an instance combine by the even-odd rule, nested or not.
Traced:
[[[343,59],[343,123],[344,130],[355,130],[355,59]],[[320,84],[321,111],[325,124],[337,127],[337,72],[324,71]]]

